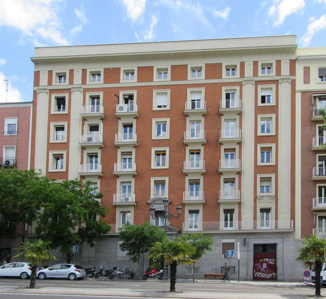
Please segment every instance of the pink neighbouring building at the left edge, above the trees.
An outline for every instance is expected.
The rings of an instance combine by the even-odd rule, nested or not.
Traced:
[[[32,105],[0,103],[0,167],[30,168]]]

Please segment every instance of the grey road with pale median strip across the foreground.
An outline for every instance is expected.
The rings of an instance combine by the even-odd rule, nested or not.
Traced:
[[[308,298],[315,294],[313,284],[289,282],[223,282],[221,280],[177,280],[177,293],[170,293],[170,282],[161,280],[84,279],[36,280],[37,289],[28,289],[29,280],[0,278],[0,299],[54,298]],[[191,293],[189,293],[191,292]],[[213,294],[212,294],[213,293]],[[172,296],[173,294],[173,296]],[[232,294],[232,295],[231,295]],[[321,289],[326,295],[326,288]]]

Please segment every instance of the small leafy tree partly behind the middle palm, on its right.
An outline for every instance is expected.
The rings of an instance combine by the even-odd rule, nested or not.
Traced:
[[[203,237],[203,233],[183,234],[181,239],[187,241],[196,248],[196,253],[192,256],[194,260],[200,260],[200,258],[206,254],[207,250],[213,250],[213,247],[211,247],[214,243],[212,237]],[[195,281],[195,264],[193,264],[192,269],[192,281]]]

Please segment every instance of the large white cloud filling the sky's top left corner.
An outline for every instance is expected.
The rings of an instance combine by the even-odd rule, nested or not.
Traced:
[[[61,37],[55,0],[0,0],[0,26],[10,26],[25,36],[50,39],[60,45],[67,41]],[[53,3],[53,4],[52,4]]]

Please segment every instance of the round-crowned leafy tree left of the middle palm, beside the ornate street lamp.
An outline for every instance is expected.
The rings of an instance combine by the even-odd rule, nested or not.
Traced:
[[[150,221],[141,225],[127,222],[124,228],[119,229],[119,238],[123,241],[119,247],[127,251],[127,255],[133,263],[137,263],[136,279],[138,277],[139,259],[142,253],[148,252],[155,242],[161,241],[165,233],[158,226],[153,226]]]

